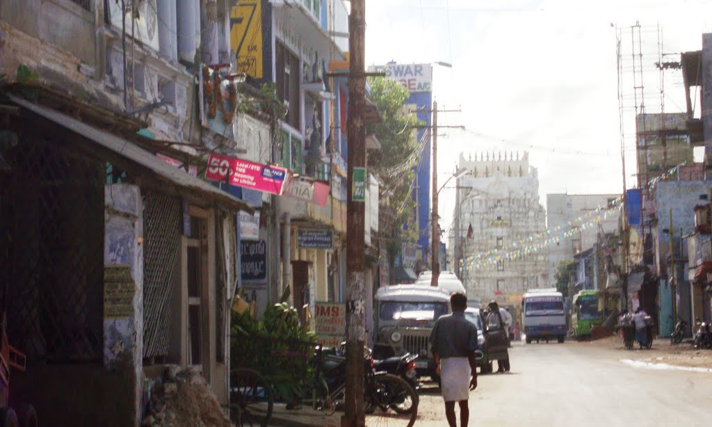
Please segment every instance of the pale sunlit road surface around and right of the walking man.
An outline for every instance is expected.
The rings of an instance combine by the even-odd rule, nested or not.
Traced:
[[[590,344],[515,344],[509,374],[481,375],[470,426],[712,426],[712,373],[633,367],[644,358]],[[447,426],[435,389],[417,426]]]

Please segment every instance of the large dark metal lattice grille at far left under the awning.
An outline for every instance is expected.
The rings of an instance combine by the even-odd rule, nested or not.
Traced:
[[[10,342],[29,361],[97,361],[103,354],[103,164],[51,142],[22,139],[0,221],[8,251]],[[0,260],[3,263],[3,260]]]

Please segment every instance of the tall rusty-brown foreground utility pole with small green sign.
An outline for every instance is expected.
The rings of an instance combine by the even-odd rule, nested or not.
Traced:
[[[351,0],[349,15],[348,204],[346,213],[346,394],[342,427],[364,427],[365,339],[365,30],[366,1]]]

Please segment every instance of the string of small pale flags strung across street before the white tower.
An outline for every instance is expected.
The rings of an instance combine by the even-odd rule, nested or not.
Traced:
[[[667,170],[664,174],[656,176],[648,181],[648,189],[653,191],[656,184],[661,181],[668,179],[669,176],[676,173],[680,166],[683,166],[686,162],[679,164],[678,166],[672,167]],[[565,224],[560,224],[554,228],[547,229],[540,233],[536,233],[528,238],[523,238],[520,241],[514,241],[509,243],[504,248],[492,249],[491,251],[486,251],[483,253],[478,253],[477,255],[466,256],[462,258],[462,269],[470,270],[471,268],[480,269],[487,267],[489,265],[495,265],[503,260],[515,260],[521,258],[525,255],[530,255],[531,253],[537,253],[543,248],[547,248],[553,243],[558,243],[564,238],[569,238],[573,236],[580,230],[585,230],[595,224],[600,223],[602,220],[608,218],[614,212],[622,209],[623,196],[618,196],[616,199],[609,201],[605,206],[598,206],[596,209],[588,211]],[[565,231],[562,231],[567,228]],[[555,234],[556,233],[556,234]],[[545,238],[544,240],[540,240]],[[536,242],[536,243],[534,243]],[[504,252],[503,251],[508,251]]]

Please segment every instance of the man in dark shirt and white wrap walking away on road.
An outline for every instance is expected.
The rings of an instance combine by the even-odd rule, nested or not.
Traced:
[[[470,391],[477,388],[477,327],[465,318],[467,297],[464,293],[451,295],[450,306],[452,314],[441,316],[435,322],[429,341],[435,364],[439,366],[447,422],[450,427],[457,427],[455,402],[459,402],[460,425],[467,427]]]

